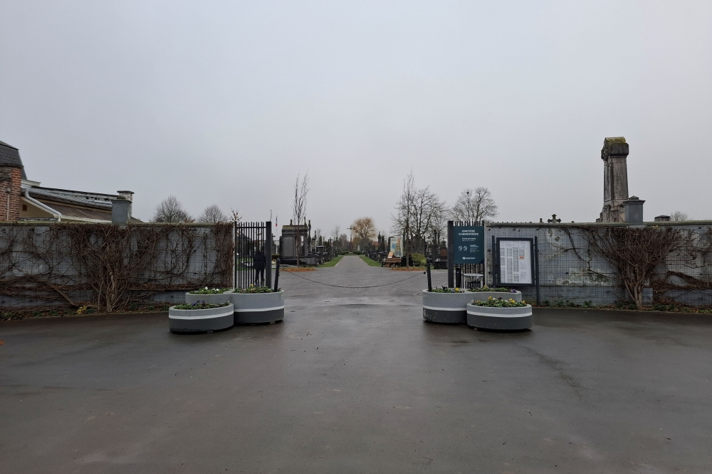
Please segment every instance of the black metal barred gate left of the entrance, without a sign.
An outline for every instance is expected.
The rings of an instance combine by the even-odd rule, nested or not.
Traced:
[[[235,222],[234,288],[272,286],[272,222]]]

